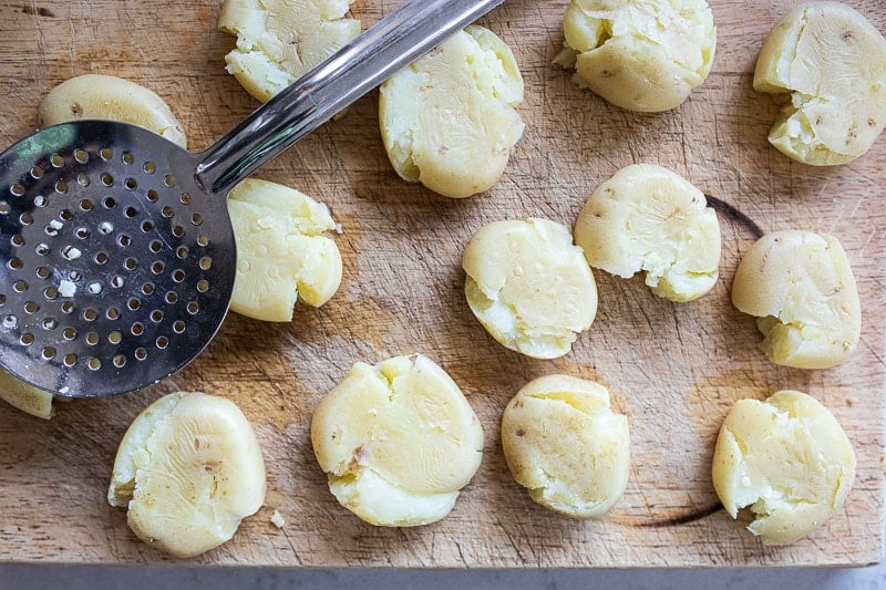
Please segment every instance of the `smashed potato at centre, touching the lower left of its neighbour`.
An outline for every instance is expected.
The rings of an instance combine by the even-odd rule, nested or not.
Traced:
[[[465,297],[502,345],[536,359],[567,354],[597,314],[597,284],[569,229],[547,219],[481,228],[462,256]]]

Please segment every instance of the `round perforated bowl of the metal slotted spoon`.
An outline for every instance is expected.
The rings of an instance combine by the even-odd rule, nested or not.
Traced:
[[[133,145],[159,138],[81,135],[104,138],[23,168],[0,162],[22,168],[0,185],[0,339],[3,364],[27,381],[103,396],[203,349],[227,312],[235,252],[226,211],[206,201],[190,161],[164,156],[165,141],[157,159]]]

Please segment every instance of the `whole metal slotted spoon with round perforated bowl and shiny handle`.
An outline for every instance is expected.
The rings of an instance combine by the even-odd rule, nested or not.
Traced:
[[[227,192],[502,1],[410,1],[200,154],[105,121],[0,154],[0,364],[68,397],[188,364],[230,303]]]

